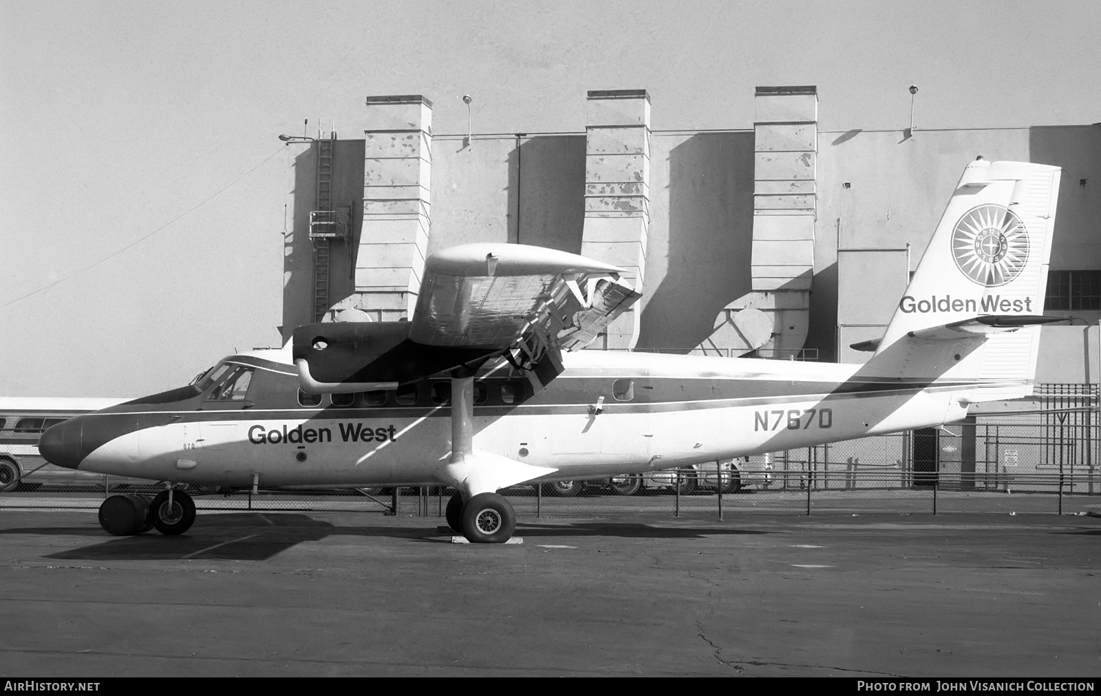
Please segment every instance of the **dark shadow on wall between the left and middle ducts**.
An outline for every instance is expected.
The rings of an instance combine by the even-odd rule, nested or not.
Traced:
[[[581,252],[585,135],[519,139],[509,153],[509,240]]]

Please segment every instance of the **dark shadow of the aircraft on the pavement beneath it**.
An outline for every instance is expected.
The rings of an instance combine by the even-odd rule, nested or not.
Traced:
[[[520,523],[516,536],[621,539],[704,539],[715,535],[768,534],[729,528],[651,526],[630,522],[577,522],[569,524]],[[155,531],[137,536],[108,536],[92,526],[14,528],[7,534],[46,536],[85,536],[99,543],[44,556],[64,561],[265,561],[302,542],[320,541],[331,535],[405,539],[421,543],[447,543],[454,532],[424,526],[338,526],[305,514],[230,513],[206,515],[199,525],[178,536]]]

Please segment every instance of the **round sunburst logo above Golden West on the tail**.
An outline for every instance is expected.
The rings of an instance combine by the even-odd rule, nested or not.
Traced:
[[[1028,262],[1028,230],[1005,206],[971,208],[952,231],[956,265],[971,281],[986,287],[1011,282]]]

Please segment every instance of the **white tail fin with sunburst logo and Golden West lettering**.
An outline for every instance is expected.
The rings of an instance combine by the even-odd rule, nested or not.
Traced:
[[[1044,311],[1059,174],[1059,167],[1025,162],[977,160],[967,166],[869,367],[876,358],[894,362],[885,354],[903,355],[891,350],[900,340],[980,341],[963,352],[966,359],[955,354],[958,363],[935,370],[939,379],[978,381],[971,401],[1032,393],[1039,329],[1029,324],[1040,323],[1035,315]],[[978,317],[1002,330],[952,336],[975,326]],[[908,365],[881,367],[911,373],[936,367],[914,365],[914,355],[904,352]]]

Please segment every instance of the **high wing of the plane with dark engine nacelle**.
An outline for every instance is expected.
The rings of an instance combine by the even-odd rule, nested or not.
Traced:
[[[425,261],[408,322],[309,324],[294,331],[304,391],[392,389],[504,352],[526,366],[591,342],[641,297],[622,269],[524,244],[451,247]]]

